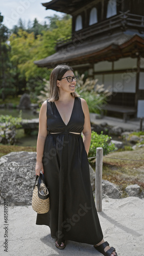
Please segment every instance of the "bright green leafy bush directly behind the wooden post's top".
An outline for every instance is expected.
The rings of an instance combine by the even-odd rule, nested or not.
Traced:
[[[104,135],[103,132],[101,134],[97,134],[96,132],[91,133],[91,144],[89,148],[88,157],[94,157],[96,154],[97,147],[103,147],[103,155],[107,155],[108,153],[115,150],[115,146],[113,143],[109,145],[108,141],[111,139],[108,135]]]

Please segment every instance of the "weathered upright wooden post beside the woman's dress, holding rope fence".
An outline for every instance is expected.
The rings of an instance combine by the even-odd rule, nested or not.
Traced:
[[[102,211],[102,173],[103,173],[103,148],[97,147],[95,163],[95,203],[97,211]]]

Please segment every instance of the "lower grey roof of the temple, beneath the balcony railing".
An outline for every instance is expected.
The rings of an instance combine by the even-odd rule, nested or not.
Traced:
[[[113,35],[93,39],[71,41],[70,45],[59,49],[44,59],[35,61],[38,67],[53,68],[59,63],[83,65],[102,60],[115,61],[122,57],[143,55],[144,37],[138,34],[118,32]]]

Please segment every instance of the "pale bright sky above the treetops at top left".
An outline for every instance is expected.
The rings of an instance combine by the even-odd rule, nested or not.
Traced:
[[[46,16],[53,16],[57,14],[62,15],[60,12],[53,10],[46,10],[41,3],[48,3],[51,0],[1,0],[0,12],[4,16],[3,25],[8,29],[12,29],[14,25],[17,25],[18,19],[25,20],[26,26],[28,21],[33,21],[37,18],[38,22],[44,24],[49,23]]]

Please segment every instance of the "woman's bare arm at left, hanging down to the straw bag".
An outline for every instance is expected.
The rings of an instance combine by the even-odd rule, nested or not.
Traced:
[[[36,158],[36,175],[39,176],[40,170],[43,173],[43,164],[42,164],[42,157],[43,157],[43,148],[44,142],[47,136],[47,123],[46,123],[46,109],[47,109],[47,102],[46,100],[42,103],[40,113],[39,113],[39,131],[37,137],[37,158]]]

